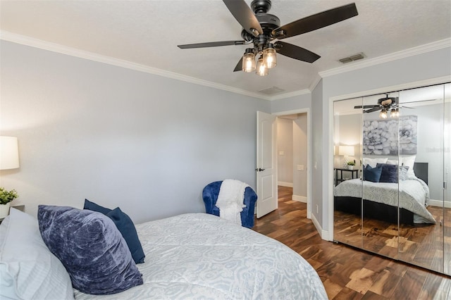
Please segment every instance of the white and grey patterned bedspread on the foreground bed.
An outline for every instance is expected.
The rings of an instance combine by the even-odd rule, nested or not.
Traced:
[[[314,268],[288,246],[215,215],[136,225],[144,285],[75,299],[327,299]]]

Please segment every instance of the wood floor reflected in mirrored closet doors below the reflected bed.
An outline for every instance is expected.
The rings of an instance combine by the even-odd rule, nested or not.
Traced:
[[[445,213],[443,213],[443,210]],[[359,215],[335,211],[334,238],[345,244],[363,247],[366,250],[411,261],[415,265],[443,273],[443,247],[449,261],[450,242],[443,240],[443,230],[450,231],[450,208],[429,206],[436,224],[397,224],[364,218]],[[445,219],[444,219],[445,218]],[[363,224],[363,227],[361,225]],[[399,249],[399,251],[398,251]],[[445,265],[449,272],[449,263]]]

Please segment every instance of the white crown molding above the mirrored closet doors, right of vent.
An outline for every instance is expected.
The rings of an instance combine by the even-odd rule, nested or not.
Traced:
[[[350,65],[343,65],[338,68],[333,68],[330,70],[325,70],[319,72],[319,75],[323,77],[328,77],[332,75],[337,75],[341,73],[350,72],[353,70],[359,70],[366,67],[371,67],[373,65],[379,65],[381,63],[388,63],[390,61],[396,61],[397,59],[407,58],[410,56],[415,56],[418,54],[424,54],[426,52],[435,51],[443,48],[451,47],[451,38],[441,39],[440,41],[431,42],[429,44],[424,44],[421,46],[416,46],[413,48],[405,49],[402,51],[393,52],[392,54],[387,54],[384,56],[379,56],[376,58],[370,58],[357,63],[351,63]]]

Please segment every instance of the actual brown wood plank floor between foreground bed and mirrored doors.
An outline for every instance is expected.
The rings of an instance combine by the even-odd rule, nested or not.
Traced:
[[[278,209],[255,221],[254,230],[301,254],[318,272],[329,299],[451,299],[451,278],[324,241],[307,206],[278,188]]]

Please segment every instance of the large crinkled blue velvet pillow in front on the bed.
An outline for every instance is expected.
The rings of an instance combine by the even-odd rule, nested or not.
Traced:
[[[101,213],[39,205],[39,231],[75,289],[116,294],[142,285],[142,275],[113,221]]]

